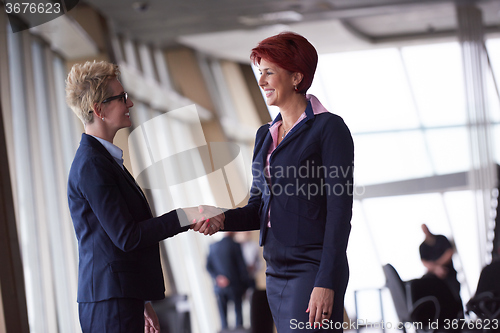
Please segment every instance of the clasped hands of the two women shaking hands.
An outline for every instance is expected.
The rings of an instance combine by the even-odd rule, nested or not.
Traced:
[[[183,208],[187,216],[190,229],[204,235],[212,236],[219,230],[224,230],[224,211],[213,206],[200,205],[198,207]]]

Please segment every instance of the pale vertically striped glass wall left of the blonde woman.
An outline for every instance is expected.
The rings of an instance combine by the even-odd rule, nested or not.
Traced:
[[[29,32],[7,33],[17,223],[31,332],[78,332],[77,251],[66,182],[77,146],[64,61]]]

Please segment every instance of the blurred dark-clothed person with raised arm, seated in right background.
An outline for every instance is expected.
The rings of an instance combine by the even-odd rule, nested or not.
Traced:
[[[457,271],[451,260],[454,249],[448,238],[434,235],[425,224],[422,224],[425,240],[420,244],[420,259],[427,268],[424,278],[439,278],[444,280],[455,297],[460,299],[460,282]]]

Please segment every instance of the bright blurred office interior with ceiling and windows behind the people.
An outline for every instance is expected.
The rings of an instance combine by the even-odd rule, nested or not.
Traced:
[[[221,165],[196,156],[172,163],[169,172],[186,186],[142,179],[155,214],[201,203],[231,208],[248,199],[255,132],[278,112],[266,106],[250,50],[281,31],[316,47],[308,93],[354,138],[347,317],[399,321],[382,267],[391,264],[404,281],[425,273],[423,223],[453,241],[464,304],[498,257],[500,1],[85,0],[29,29],[26,15],[6,15],[7,2],[0,2],[0,332],[81,332],[66,198],[83,132],[65,103],[71,66],[120,66],[133,125],[114,143],[136,178],[161,156],[223,143]],[[148,128],[159,153],[145,161],[134,138]],[[231,181],[209,176],[232,161],[244,171]],[[186,232],[160,244],[166,295],[185,296],[179,311],[190,332],[220,330],[205,270],[220,237]]]

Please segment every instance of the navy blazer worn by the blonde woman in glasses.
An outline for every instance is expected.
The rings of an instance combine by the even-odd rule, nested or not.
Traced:
[[[153,218],[133,177],[85,133],[69,172],[68,203],[78,239],[78,302],[164,298],[158,243],[189,229],[179,222],[182,210]]]

